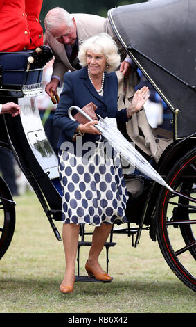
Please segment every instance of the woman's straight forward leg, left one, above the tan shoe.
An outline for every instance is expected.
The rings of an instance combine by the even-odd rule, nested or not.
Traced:
[[[62,285],[71,285],[75,276],[75,259],[78,250],[80,225],[63,224],[62,239],[65,254],[65,274]]]

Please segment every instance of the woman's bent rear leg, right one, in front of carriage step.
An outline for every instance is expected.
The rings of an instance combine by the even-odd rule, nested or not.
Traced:
[[[98,257],[111,230],[112,224],[102,223],[100,226],[97,226],[93,232],[92,244],[87,262],[88,265],[91,266],[92,269],[96,269],[98,273],[105,273],[98,263]]]

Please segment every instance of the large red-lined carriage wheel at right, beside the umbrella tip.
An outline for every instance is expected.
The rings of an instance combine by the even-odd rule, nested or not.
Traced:
[[[173,166],[157,202],[157,239],[163,257],[190,289],[196,291],[196,151]]]

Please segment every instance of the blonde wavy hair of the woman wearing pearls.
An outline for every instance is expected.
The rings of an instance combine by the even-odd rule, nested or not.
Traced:
[[[85,40],[78,52],[78,58],[82,67],[87,66],[87,51],[92,51],[94,54],[103,54],[107,61],[107,72],[114,72],[120,65],[120,55],[118,47],[114,40],[106,34],[100,33]]]

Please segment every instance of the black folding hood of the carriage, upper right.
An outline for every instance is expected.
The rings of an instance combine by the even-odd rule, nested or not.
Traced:
[[[119,6],[108,17],[127,53],[175,113],[175,137],[195,133],[196,0]]]

